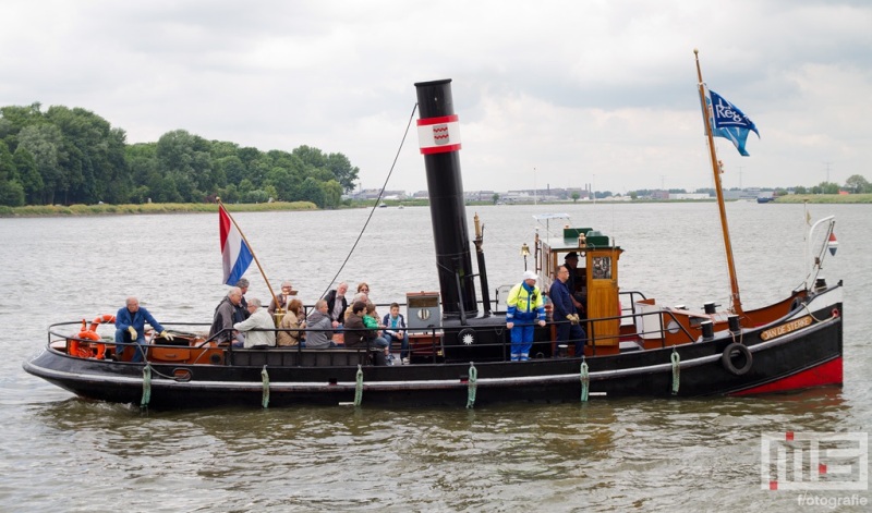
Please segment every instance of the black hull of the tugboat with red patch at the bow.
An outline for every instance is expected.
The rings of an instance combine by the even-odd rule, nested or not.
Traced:
[[[840,293],[839,293],[840,296]],[[816,302],[812,302],[815,304]],[[742,342],[752,355],[750,369],[737,374],[723,362],[735,341],[728,332],[675,349],[634,351],[586,358],[589,392],[595,398],[698,398],[797,390],[841,384],[841,303],[823,302],[816,319],[802,329],[761,337],[767,327],[746,330]],[[787,319],[785,319],[787,320]],[[778,325],[777,322],[773,323]],[[678,390],[673,363],[678,354]],[[531,362],[474,363],[475,405],[505,402],[579,401],[581,358],[546,357]],[[51,347],[24,364],[24,369],[80,396],[141,404],[141,364],[71,357]],[[184,369],[190,379],[169,379]],[[148,406],[192,408],[222,405],[261,407],[263,366],[152,364]],[[465,406],[470,398],[470,362],[362,368],[356,366],[266,367],[268,405],[352,403],[359,387],[363,405]]]

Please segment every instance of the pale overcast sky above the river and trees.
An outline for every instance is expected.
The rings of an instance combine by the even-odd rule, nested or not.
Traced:
[[[762,138],[724,186],[872,181],[872,2],[7,0],[0,106],[342,152],[380,186],[452,78],[467,191],[708,187],[693,49]],[[415,119],[417,115],[415,115]],[[535,172],[534,172],[535,169]],[[414,126],[388,188],[426,185]]]

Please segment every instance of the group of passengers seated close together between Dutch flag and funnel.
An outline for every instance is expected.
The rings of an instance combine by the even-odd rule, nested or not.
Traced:
[[[409,363],[405,319],[397,303],[383,318],[370,301],[370,285],[360,283],[351,304],[346,300],[348,283],[341,282],[315,303],[306,316],[303,303],[295,297],[290,282],[267,308],[261,300],[245,298],[249,280],[241,279],[215,308],[209,338],[233,347],[264,349],[302,346],[307,349],[372,347],[375,365],[392,365],[390,344],[399,341],[400,358]],[[278,329],[277,329],[278,328]]]

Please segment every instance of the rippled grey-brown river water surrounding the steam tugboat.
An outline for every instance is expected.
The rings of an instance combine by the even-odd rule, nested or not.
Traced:
[[[727,206],[746,308],[806,274],[803,206]],[[221,285],[217,215],[0,219],[0,511],[829,511],[861,491],[761,487],[764,432],[865,432],[872,423],[872,206],[836,215],[845,387],[764,398],[510,404],[472,411],[299,407],[141,412],[73,398],[25,374],[49,323],[114,314],[140,297],[161,322],[210,320]],[[727,304],[713,204],[470,207],[485,224],[492,289],[520,280],[534,213],[568,212],[611,235],[625,291]],[[378,303],[438,291],[427,208],[239,213],[278,292],[314,302],[335,274]],[[472,233],[472,230],[470,230]],[[344,264],[344,267],[343,266]],[[530,261],[532,265],[532,260]],[[341,270],[340,270],[341,269]],[[253,265],[249,297],[269,293]],[[868,485],[868,484],[865,484]],[[806,500],[807,502],[802,502]],[[826,504],[819,502],[819,504]]]

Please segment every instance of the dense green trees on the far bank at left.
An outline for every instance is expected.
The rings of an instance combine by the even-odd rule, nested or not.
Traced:
[[[126,144],[94,112],[0,107],[0,205],[312,201],[334,208],[359,169],[342,154],[261,151],[183,130]]]

